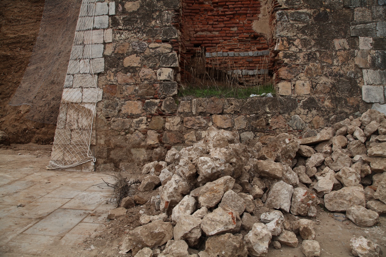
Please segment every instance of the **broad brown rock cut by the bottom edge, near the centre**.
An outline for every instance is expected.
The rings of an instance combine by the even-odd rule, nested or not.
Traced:
[[[205,242],[205,251],[198,254],[200,257],[247,257],[248,249],[242,240],[242,235],[215,235]]]

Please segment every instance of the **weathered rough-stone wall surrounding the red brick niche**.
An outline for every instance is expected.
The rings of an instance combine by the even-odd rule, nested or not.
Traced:
[[[192,16],[188,7],[200,20],[201,8],[221,12],[219,3],[231,8],[231,3],[220,0],[115,1],[116,14],[109,20],[113,39],[104,43],[105,68],[98,75],[103,98],[97,104],[95,119],[93,151],[97,171],[128,169],[132,162],[163,160],[169,148],[193,144],[212,125],[239,132],[241,140],[255,137],[264,143],[267,137],[283,132],[311,137],[350,115],[356,117],[368,108],[384,107],[381,91],[385,85],[385,44],[381,20],[386,6],[382,0],[261,1],[252,16],[248,16],[248,11],[246,14],[246,21],[253,21],[255,32],[245,33],[251,37],[248,40],[259,36],[264,46],[256,42],[256,49],[239,57],[248,59],[249,52],[253,57],[255,51],[257,56],[259,51],[269,51],[266,53],[272,65],[268,68],[273,74],[276,97],[178,98],[181,60],[188,47],[189,51],[197,47],[186,40],[189,28],[183,21],[188,13]],[[195,5],[198,9],[193,8]],[[235,8],[241,11],[241,7],[233,7],[236,14],[229,15],[236,17]],[[366,22],[361,20],[369,17],[371,20]],[[213,16],[213,23],[215,19],[220,18]],[[251,23],[239,24],[248,27]],[[219,29],[218,35],[229,31]],[[194,32],[193,38],[200,35],[194,29],[188,31]],[[244,31],[239,32],[245,35]],[[208,38],[212,45],[206,46],[207,58],[218,57],[219,52],[227,50],[221,47],[229,39],[218,43],[215,35]],[[215,46],[221,51],[214,51],[211,47]]]

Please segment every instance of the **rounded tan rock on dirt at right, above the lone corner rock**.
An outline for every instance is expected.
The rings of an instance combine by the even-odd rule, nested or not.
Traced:
[[[363,206],[353,205],[346,211],[346,217],[359,227],[371,227],[379,222],[379,215],[375,211],[367,210]]]

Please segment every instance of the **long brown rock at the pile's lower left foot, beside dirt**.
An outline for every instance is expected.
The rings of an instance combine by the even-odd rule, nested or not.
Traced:
[[[172,238],[173,226],[170,222],[154,221],[130,231],[120,250],[123,253],[132,250],[134,255],[144,247],[154,248],[163,245]]]

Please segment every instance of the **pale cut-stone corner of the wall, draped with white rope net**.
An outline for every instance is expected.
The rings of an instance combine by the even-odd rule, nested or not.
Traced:
[[[95,74],[104,69],[103,29],[92,30],[96,4],[83,0],[80,7],[48,169],[95,162],[90,142],[96,104],[102,100]]]

